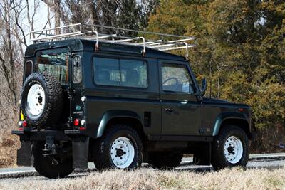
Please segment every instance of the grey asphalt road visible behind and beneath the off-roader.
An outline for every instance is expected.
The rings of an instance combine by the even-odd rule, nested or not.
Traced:
[[[143,167],[152,169],[148,167],[147,164],[143,164]],[[279,168],[285,167],[285,153],[278,154],[251,154],[249,163],[247,164],[248,168]],[[186,157],[182,159],[180,167],[177,167],[177,171],[212,171],[211,166],[195,166],[192,164],[192,158]],[[65,179],[77,178],[81,176],[86,176],[90,172],[96,172],[94,164],[92,162],[88,163],[88,169],[77,169],[71,175]],[[38,173],[33,169],[33,167],[18,167],[18,168],[5,168],[0,169],[0,183],[1,182],[23,182],[23,181],[38,181],[38,180],[47,180],[53,181],[58,179],[46,179],[43,176],[39,176]]]

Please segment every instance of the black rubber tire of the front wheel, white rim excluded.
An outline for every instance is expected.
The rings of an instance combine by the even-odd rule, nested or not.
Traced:
[[[224,143],[228,137],[235,136],[238,137],[242,142],[243,152],[242,157],[239,162],[232,164],[227,161],[224,156]],[[226,125],[222,127],[219,134],[214,137],[214,142],[212,144],[212,167],[214,169],[224,169],[226,167],[246,167],[249,160],[249,139],[247,134],[242,130],[241,127],[235,125]]]

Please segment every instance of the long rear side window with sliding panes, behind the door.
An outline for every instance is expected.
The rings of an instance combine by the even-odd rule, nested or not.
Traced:
[[[97,85],[147,88],[147,63],[142,60],[93,58]]]

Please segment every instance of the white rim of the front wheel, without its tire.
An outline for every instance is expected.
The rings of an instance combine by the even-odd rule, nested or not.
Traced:
[[[235,136],[230,136],[224,142],[224,157],[231,164],[237,164],[242,159],[244,149],[242,147],[242,141]]]

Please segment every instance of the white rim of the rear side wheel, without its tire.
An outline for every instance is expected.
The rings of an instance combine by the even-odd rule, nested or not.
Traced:
[[[127,168],[135,158],[135,147],[127,137],[118,137],[110,149],[110,157],[118,168]]]

